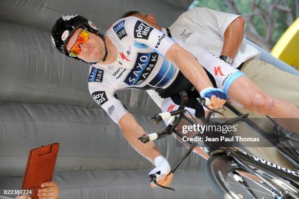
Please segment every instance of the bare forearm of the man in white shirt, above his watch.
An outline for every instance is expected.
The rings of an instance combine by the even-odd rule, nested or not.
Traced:
[[[238,17],[230,23],[224,32],[221,55],[227,55],[233,60],[235,59],[238,49],[243,41],[244,28],[245,19],[243,17]]]

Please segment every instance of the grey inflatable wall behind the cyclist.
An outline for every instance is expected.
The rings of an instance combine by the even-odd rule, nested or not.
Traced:
[[[167,27],[191,3],[184,0],[177,7],[175,2],[0,1],[0,190],[21,188],[30,149],[58,142],[53,181],[61,188],[61,199],[217,198],[203,170],[205,160],[195,154],[176,172],[176,192],[150,188],[153,166],[90,97],[87,64],[63,56],[50,40],[52,25],[64,13],[85,16],[102,33],[129,10],[152,13]],[[165,128],[149,120],[160,110],[146,92],[117,94],[147,133]],[[171,165],[186,150],[173,137],[156,144]]]

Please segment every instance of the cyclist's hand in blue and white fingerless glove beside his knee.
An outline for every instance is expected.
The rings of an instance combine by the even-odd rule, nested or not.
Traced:
[[[200,91],[200,95],[211,100],[212,105],[208,105],[210,109],[218,109],[226,102],[225,92],[220,88],[205,88]]]

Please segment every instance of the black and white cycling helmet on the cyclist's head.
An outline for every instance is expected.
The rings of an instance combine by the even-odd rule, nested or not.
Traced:
[[[77,28],[87,28],[89,32],[95,33],[103,38],[103,35],[99,34],[99,30],[94,23],[90,22],[85,17],[75,14],[63,15],[54,24],[51,32],[51,39],[54,46],[66,56],[72,57],[65,49],[65,44]],[[77,57],[72,58],[78,59]]]

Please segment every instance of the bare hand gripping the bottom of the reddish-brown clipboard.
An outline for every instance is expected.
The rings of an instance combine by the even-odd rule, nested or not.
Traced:
[[[59,187],[55,182],[44,182],[38,190],[39,199],[58,199]]]

